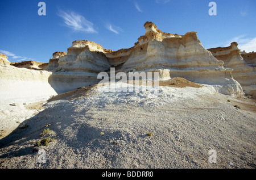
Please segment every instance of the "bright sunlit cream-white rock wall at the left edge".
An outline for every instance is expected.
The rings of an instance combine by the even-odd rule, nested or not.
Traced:
[[[0,101],[35,101],[56,95],[49,84],[51,72],[0,65]]]

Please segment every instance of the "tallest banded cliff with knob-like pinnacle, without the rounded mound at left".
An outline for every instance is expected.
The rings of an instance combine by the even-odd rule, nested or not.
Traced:
[[[224,68],[224,62],[203,47],[196,32],[183,36],[168,34],[152,22],[146,22],[144,27],[146,34],[139,37],[128,57],[126,52],[127,60],[122,61],[119,70],[168,69],[170,77],[214,85],[223,94],[241,95],[241,86],[232,78],[232,69]]]

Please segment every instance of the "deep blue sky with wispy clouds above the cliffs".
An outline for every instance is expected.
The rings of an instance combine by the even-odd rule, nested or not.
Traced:
[[[45,0],[46,16],[39,16],[40,1],[0,1],[0,53],[11,62],[48,62],[75,40],[130,48],[147,21],[172,34],[196,31],[205,48],[237,41],[241,50],[256,51],[255,0]],[[216,16],[208,13],[212,1]]]

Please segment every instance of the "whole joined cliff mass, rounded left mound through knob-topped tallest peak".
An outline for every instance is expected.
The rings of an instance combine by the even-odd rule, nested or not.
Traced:
[[[97,74],[109,72],[110,67],[114,67],[116,73],[162,69],[160,72],[167,74],[162,79],[183,77],[213,85],[223,94],[242,95],[240,84],[232,77],[232,69],[225,68],[223,61],[217,60],[203,47],[196,32],[170,34],[158,30],[152,22],[146,22],[144,27],[146,33],[129,49],[112,51],[88,40],[73,41],[67,55],[59,57],[55,64],[57,68],[52,75],[53,81],[69,81],[71,78],[79,82],[82,78],[84,83],[97,83]],[[79,74],[80,77],[71,77],[71,73]]]

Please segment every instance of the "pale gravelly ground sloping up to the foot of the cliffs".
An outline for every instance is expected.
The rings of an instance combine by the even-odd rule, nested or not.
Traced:
[[[158,97],[91,86],[26,104],[26,111],[40,111],[0,137],[0,167],[256,168],[255,100],[173,81],[159,83]],[[46,137],[54,141],[34,147]]]

